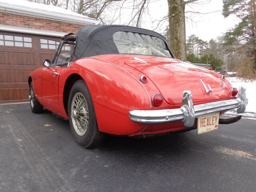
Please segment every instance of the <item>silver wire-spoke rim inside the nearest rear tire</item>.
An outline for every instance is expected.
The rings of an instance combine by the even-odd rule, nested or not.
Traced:
[[[89,112],[86,99],[80,92],[74,94],[72,98],[71,118],[76,133],[84,136],[89,124]]]

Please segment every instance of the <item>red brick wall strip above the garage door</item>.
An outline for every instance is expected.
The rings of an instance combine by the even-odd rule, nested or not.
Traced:
[[[79,24],[59,22],[30,16],[20,16],[2,12],[0,12],[0,24],[40,30],[50,30],[56,32],[75,32],[83,26]]]

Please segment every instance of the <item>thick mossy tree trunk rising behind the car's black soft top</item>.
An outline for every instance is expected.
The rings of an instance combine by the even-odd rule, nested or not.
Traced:
[[[168,0],[170,48],[175,58],[186,60],[186,28],[184,0]]]

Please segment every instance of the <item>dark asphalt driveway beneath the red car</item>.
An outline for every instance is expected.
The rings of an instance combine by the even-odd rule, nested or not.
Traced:
[[[80,147],[68,121],[29,104],[0,105],[0,191],[256,191],[256,120]]]

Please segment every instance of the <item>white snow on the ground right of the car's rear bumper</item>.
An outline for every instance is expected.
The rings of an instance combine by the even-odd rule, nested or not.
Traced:
[[[246,98],[248,99],[248,104],[242,116],[243,118],[256,120],[256,81],[239,79],[237,77],[228,77],[227,80],[237,89],[239,89],[240,86],[246,87]],[[237,116],[236,110],[228,111],[225,114],[228,116]]]

